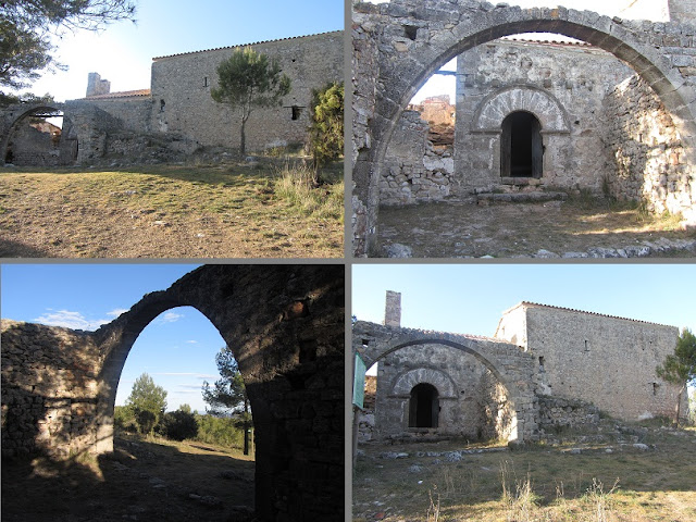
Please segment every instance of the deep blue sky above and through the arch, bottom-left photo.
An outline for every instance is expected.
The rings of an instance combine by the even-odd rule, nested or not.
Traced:
[[[184,264],[3,264],[4,319],[96,330],[128,310],[149,291],[163,290],[196,265]],[[183,402],[200,412],[203,380],[219,378],[215,353],[224,346],[198,310],[160,314],[136,340],[121,376],[116,405],[125,403],[135,378],[149,373],[167,390],[167,409]]]

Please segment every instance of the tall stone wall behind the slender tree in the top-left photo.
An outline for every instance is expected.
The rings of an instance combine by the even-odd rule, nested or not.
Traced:
[[[304,142],[311,90],[343,80],[343,35],[334,32],[249,46],[277,60],[291,80],[283,107],[254,109],[249,117],[246,126],[249,151]],[[201,146],[238,148],[238,111],[214,102],[210,90],[217,85],[217,65],[240,48],[153,59],[150,127],[160,133],[181,133]]]

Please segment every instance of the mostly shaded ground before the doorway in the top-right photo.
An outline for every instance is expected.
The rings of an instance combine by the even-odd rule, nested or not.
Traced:
[[[583,195],[567,202],[423,203],[380,210],[382,250],[408,245],[414,258],[530,256],[586,252],[593,247],[624,248],[658,238],[686,239],[679,216],[656,216],[636,203]],[[692,257],[693,252],[681,256]]]

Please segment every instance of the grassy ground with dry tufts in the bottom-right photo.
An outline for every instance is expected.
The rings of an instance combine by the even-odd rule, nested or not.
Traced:
[[[362,445],[353,476],[353,521],[647,522],[696,520],[696,431],[636,432],[635,438],[571,446],[426,457],[442,444]],[[607,449],[611,448],[611,453]],[[409,457],[381,458],[384,451]]]

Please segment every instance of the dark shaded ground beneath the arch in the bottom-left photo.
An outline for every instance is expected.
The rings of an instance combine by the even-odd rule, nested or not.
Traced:
[[[248,520],[252,459],[209,444],[129,436],[98,459],[3,461],[2,520]]]

